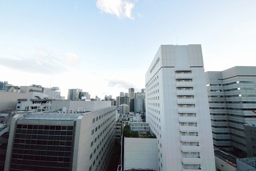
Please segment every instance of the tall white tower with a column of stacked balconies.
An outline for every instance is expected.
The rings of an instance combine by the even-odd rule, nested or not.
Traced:
[[[215,171],[201,45],[161,45],[146,73],[159,171]]]

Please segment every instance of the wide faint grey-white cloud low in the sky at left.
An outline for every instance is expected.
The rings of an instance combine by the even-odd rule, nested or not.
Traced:
[[[0,55],[1,56],[1,55]],[[79,58],[72,53],[55,53],[41,48],[39,52],[29,57],[6,56],[0,57],[0,65],[15,70],[40,74],[60,74],[78,68]]]

